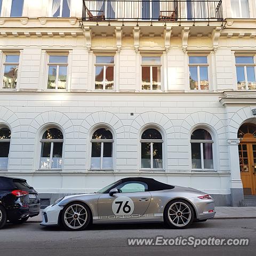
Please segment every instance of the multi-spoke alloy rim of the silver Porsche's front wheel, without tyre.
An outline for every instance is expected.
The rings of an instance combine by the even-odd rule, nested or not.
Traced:
[[[85,225],[87,220],[87,210],[81,204],[70,205],[64,214],[64,221],[71,229],[78,229]]]

